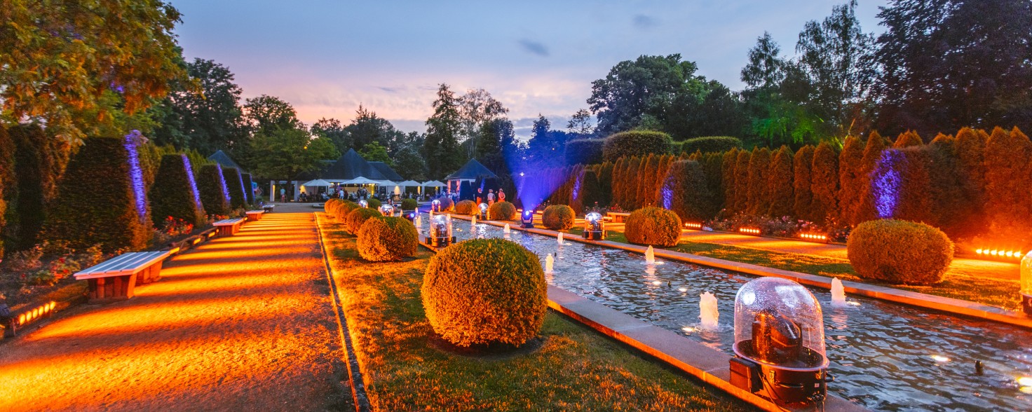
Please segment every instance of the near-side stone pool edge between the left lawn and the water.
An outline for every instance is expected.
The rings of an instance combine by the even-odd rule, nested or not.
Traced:
[[[434,253],[438,251],[426,244],[422,235],[419,244]],[[731,384],[731,355],[556,286],[548,286],[548,307],[761,410],[785,411],[764,398]],[[861,412],[868,409],[845,399],[829,395],[823,408],[814,410]]]

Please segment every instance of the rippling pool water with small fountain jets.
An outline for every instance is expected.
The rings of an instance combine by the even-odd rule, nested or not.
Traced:
[[[502,228],[484,226],[476,236],[503,236]],[[754,277],[678,261],[645,265],[640,254],[576,242],[559,247],[523,231],[509,237],[542,264],[555,254],[550,284],[732,353],[735,293]],[[700,327],[705,291],[716,295],[725,319],[716,331]],[[828,290],[811,291],[825,308],[833,393],[878,410],[1032,410],[1032,386],[1018,381],[1032,376],[1032,331],[863,297],[833,308]]]

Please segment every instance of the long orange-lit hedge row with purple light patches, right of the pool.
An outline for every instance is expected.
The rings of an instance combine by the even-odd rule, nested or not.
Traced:
[[[1020,129],[963,128],[924,144],[876,132],[771,151],[650,153],[543,169],[523,184],[577,211],[600,205],[673,210],[685,221],[792,217],[835,230],[879,218],[924,222],[954,239],[1023,242],[1032,232],[1032,141]]]

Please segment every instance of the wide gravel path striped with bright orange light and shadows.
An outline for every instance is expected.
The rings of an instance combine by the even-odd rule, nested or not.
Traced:
[[[0,345],[0,411],[350,404],[314,215],[291,209],[312,211],[279,205],[166,262],[136,297]]]

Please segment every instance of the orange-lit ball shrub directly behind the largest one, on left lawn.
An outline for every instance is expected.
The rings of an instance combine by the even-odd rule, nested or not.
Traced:
[[[358,228],[358,254],[373,262],[401,260],[416,254],[419,234],[405,218],[375,217]]]

